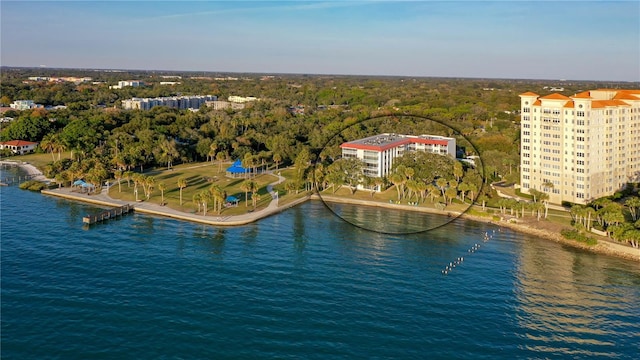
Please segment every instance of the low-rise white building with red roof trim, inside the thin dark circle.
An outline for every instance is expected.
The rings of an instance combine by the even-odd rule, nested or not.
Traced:
[[[343,158],[357,158],[364,162],[364,174],[383,177],[389,174],[393,159],[405,151],[428,151],[456,156],[456,139],[436,135],[379,134],[349,141],[342,145]]]

